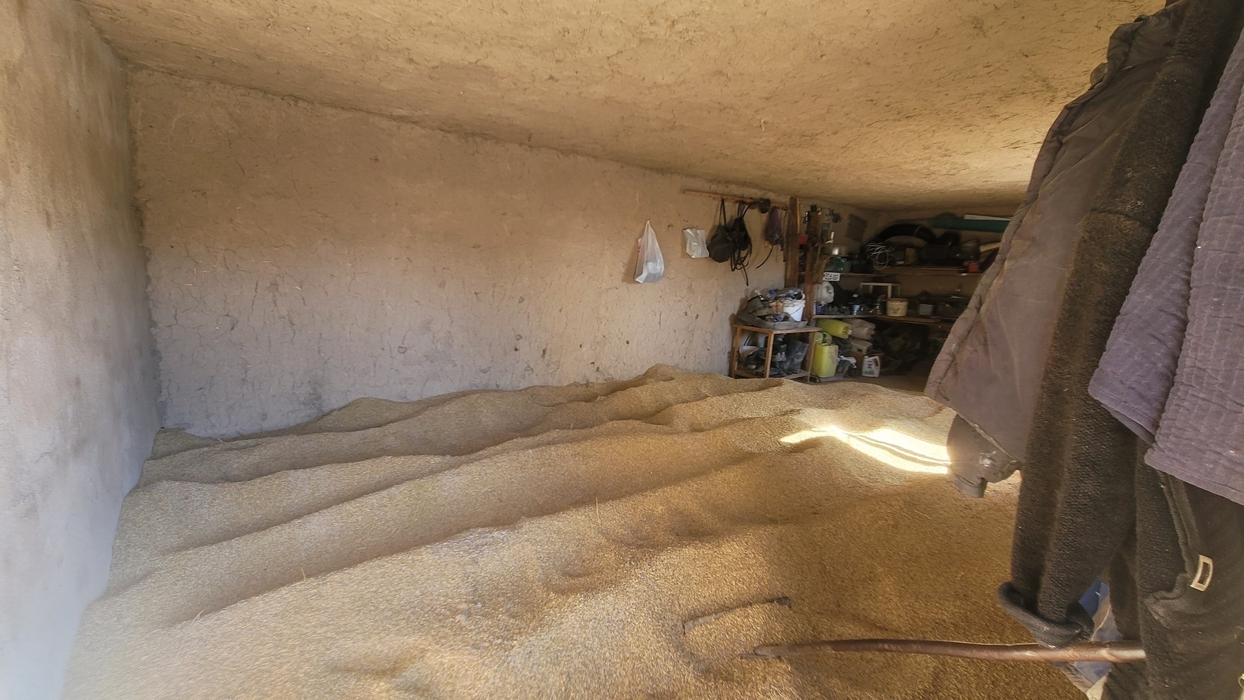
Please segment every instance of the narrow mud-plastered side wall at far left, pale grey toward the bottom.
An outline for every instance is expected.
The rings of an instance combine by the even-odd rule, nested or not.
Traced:
[[[0,0],[0,698],[57,694],[157,428],[124,81],[77,4]]]

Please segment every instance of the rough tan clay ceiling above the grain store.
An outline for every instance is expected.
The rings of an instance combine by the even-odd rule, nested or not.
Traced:
[[[877,209],[1014,204],[1161,0],[86,0],[131,62]]]

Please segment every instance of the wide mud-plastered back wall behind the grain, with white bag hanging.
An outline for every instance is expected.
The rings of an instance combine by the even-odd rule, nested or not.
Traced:
[[[168,426],[726,369],[743,274],[682,236],[717,210],[682,188],[714,185],[159,72],[131,96]],[[646,219],[666,279],[637,285]]]

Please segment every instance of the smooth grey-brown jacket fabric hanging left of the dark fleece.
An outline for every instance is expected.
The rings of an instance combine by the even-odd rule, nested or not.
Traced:
[[[1118,153],[1123,127],[1171,52],[1183,14],[1176,5],[1115,31],[1106,63],[1093,71],[1096,82],[1045,137],[998,259],[929,374],[926,393],[1011,460],[1028,449],[1080,221]],[[1110,251],[1096,255],[1108,259]]]

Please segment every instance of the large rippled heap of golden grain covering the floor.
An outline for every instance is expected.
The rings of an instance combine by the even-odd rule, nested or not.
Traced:
[[[935,466],[918,448],[949,418],[866,384],[657,367],[364,399],[228,443],[164,433],[66,695],[1077,698],[1041,665],[736,658],[835,637],[1028,642],[994,603],[1014,485],[969,501],[894,466]],[[683,630],[779,596],[791,608]]]

